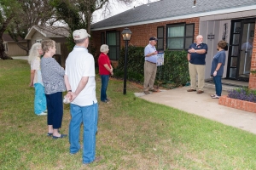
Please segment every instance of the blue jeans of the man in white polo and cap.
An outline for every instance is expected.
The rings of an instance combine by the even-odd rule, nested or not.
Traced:
[[[79,106],[70,104],[71,121],[69,124],[70,153],[80,150],[79,138],[81,123],[84,124],[83,163],[90,163],[96,156],[96,132],[98,122],[98,104]]]

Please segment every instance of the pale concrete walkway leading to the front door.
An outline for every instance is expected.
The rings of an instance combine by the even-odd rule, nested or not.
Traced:
[[[141,93],[137,96],[256,134],[255,113],[218,105],[218,99],[210,97],[211,94],[215,94],[215,89],[205,88],[203,94],[187,92],[187,89],[189,87],[174,88],[148,95]],[[225,94],[227,94],[226,91],[223,92],[223,95]]]

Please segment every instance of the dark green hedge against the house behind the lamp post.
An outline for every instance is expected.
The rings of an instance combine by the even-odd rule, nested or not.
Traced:
[[[114,77],[124,77],[125,48],[120,51],[119,65],[114,70]],[[127,79],[143,83],[144,80],[144,47],[128,48]],[[173,83],[175,87],[189,82],[187,52],[165,51],[165,64],[157,68],[155,83]]]

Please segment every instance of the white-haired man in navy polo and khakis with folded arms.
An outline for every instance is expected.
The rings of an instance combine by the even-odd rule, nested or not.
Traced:
[[[189,76],[191,87],[188,92],[196,91],[196,76],[198,79],[197,94],[204,93],[203,88],[205,86],[205,71],[206,71],[206,55],[207,44],[203,43],[203,37],[198,35],[196,42],[189,46],[188,60],[189,60]]]

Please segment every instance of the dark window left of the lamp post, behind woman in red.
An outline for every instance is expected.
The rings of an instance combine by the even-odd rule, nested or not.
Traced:
[[[120,32],[119,31],[107,31],[106,43],[108,44],[109,59],[118,60],[120,55]]]

